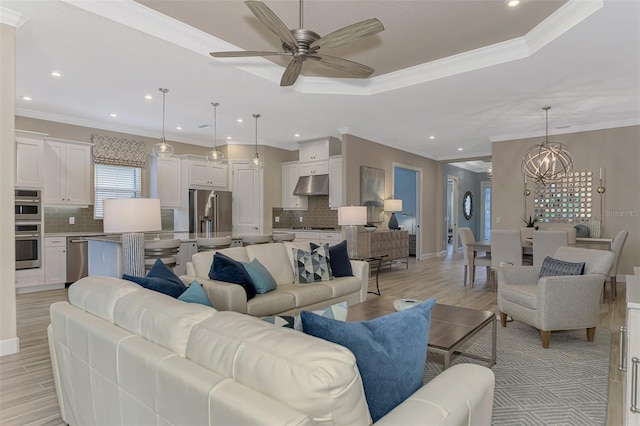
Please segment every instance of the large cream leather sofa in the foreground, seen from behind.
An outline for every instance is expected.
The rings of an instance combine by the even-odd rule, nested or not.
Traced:
[[[372,423],[343,346],[130,281],[74,283],[51,305],[48,337],[72,426]],[[488,425],[493,391],[491,370],[456,365],[376,424]]]

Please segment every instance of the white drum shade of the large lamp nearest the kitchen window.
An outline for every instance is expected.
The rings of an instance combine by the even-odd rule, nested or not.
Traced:
[[[160,200],[117,198],[104,200],[104,232],[151,232],[162,229]]]

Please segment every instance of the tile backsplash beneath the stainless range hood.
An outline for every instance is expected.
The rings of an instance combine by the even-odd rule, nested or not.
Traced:
[[[280,222],[275,218],[279,217]],[[309,197],[307,210],[284,210],[281,207],[273,208],[273,229],[294,228],[300,226],[339,228],[338,210],[329,208],[328,195],[314,195]],[[302,222],[300,218],[302,217]]]

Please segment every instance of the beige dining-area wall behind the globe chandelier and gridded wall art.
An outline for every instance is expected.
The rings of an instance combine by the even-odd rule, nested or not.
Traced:
[[[591,171],[598,178],[599,169],[606,170],[606,192],[602,197],[604,218],[600,217],[600,195],[595,190],[593,215],[602,219],[603,237],[614,237],[622,229],[629,231],[618,274],[632,274],[633,266],[640,266],[640,126],[555,135],[549,140],[567,145],[573,155],[574,171]],[[540,142],[541,137],[493,144],[495,229],[520,228],[522,217],[533,213],[533,196],[526,197],[525,201],[522,194],[520,162],[527,149]],[[541,225],[542,228],[567,226],[570,224]]]

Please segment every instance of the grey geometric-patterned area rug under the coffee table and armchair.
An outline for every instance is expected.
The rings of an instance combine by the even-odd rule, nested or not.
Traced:
[[[490,327],[465,352],[487,355]],[[594,342],[585,330],[551,333],[543,349],[538,330],[518,321],[498,323],[493,425],[604,425],[607,418],[611,333],[598,328]],[[481,363],[458,356],[453,364]],[[442,356],[429,354],[425,382],[442,371]]]

